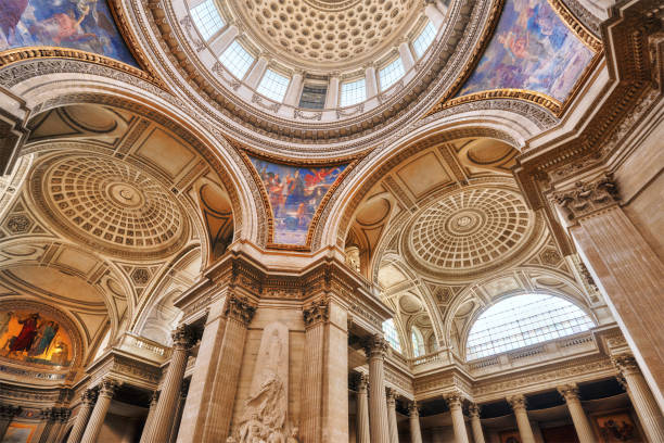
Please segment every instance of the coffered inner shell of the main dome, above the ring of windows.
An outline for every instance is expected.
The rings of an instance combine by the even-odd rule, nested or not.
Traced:
[[[397,45],[422,10],[417,0],[246,0],[242,4],[244,28],[270,52],[324,69],[374,61]]]

